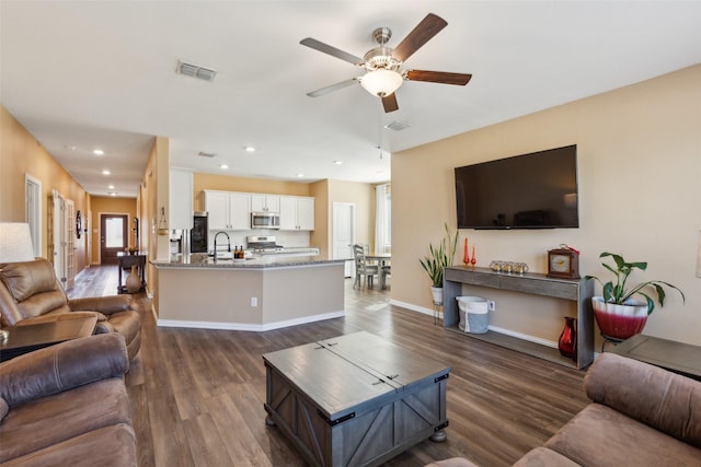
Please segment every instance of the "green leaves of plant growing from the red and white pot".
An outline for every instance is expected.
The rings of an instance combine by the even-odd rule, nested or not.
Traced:
[[[609,271],[613,272],[613,275],[616,276],[616,279],[614,279],[616,282],[611,280],[604,283],[599,278],[595,276],[584,277],[586,280],[594,279],[601,285],[605,302],[614,303],[617,305],[625,305],[625,301],[631,299],[633,295],[635,294],[642,295],[645,297],[645,301],[647,302],[647,314],[650,315],[655,310],[655,301],[647,293],[643,292],[643,289],[652,288],[652,290],[657,294],[657,301],[659,302],[659,306],[664,306],[666,294],[663,285],[667,285],[671,289],[675,289],[681,294],[681,300],[686,301],[686,297],[683,296],[682,291],[680,291],[679,289],[677,289],[676,287],[674,287],[668,282],[658,281],[658,280],[642,282],[629,290],[627,288],[628,277],[631,275],[631,272],[633,272],[634,269],[640,269],[641,271],[644,271],[645,269],[647,269],[647,262],[627,262],[621,255],[616,255],[613,253],[607,253],[607,252],[604,252],[602,254],[600,254],[599,258],[605,258],[607,256],[610,256],[611,258],[613,258],[613,261],[616,261],[616,268],[610,265],[607,265],[606,262],[601,262],[601,266],[604,266]]]

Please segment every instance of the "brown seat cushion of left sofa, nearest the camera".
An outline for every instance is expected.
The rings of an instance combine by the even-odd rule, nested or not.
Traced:
[[[136,436],[126,423],[104,427],[3,464],[15,466],[136,467]]]

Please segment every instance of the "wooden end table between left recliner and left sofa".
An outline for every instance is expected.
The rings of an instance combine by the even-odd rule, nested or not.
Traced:
[[[97,318],[90,316],[4,328],[9,336],[0,341],[0,361],[4,362],[33,350],[91,336],[95,330],[95,324]]]

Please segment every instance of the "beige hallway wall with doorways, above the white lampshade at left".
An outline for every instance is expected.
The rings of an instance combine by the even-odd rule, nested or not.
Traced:
[[[24,177],[42,183],[42,254],[53,259],[48,212],[53,190],[74,202],[83,215],[90,209],[90,196],[44,147],[2,106],[0,106],[0,221],[25,222]],[[85,267],[85,235],[76,240],[76,271]]]

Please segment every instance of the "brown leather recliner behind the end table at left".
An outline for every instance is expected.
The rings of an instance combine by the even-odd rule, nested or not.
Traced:
[[[0,265],[0,317],[2,327],[97,316],[95,334],[118,332],[129,360],[141,347],[141,317],[131,310],[130,295],[68,300],[54,267],[44,258]]]

